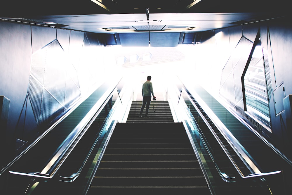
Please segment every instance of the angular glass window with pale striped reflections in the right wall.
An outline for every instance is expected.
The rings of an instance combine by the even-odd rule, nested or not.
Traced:
[[[252,59],[244,75],[244,89],[247,112],[270,126],[263,49],[260,42],[253,51]]]

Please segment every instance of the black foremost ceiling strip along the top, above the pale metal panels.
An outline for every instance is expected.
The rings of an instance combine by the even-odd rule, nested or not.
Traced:
[[[1,3],[0,17],[120,13],[290,13],[286,0],[25,0]]]

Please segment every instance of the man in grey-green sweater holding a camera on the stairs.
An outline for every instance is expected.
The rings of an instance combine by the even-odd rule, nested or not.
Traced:
[[[151,76],[148,76],[147,81],[143,84],[143,87],[142,87],[143,103],[140,110],[140,118],[142,118],[142,113],[145,108],[145,105],[146,105],[145,117],[149,118],[148,110],[150,107],[151,94],[153,98],[156,98],[153,94],[152,82],[150,82],[150,80],[151,80]]]

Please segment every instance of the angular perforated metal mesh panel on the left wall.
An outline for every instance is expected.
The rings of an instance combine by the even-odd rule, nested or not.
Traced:
[[[58,40],[33,54],[28,95],[37,125],[53,121],[81,96],[77,71]]]

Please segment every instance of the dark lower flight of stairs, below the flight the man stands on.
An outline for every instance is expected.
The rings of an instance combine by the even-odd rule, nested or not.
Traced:
[[[91,194],[211,194],[182,123],[118,123]]]

